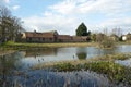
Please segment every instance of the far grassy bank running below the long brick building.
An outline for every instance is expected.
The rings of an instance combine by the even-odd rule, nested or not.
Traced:
[[[2,49],[26,50],[26,49],[44,49],[44,48],[59,48],[59,47],[90,47],[97,46],[96,42],[64,42],[64,44],[21,44],[21,42],[5,42],[1,46]]]

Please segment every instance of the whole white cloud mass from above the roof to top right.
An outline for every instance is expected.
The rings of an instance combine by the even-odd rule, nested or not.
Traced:
[[[49,5],[43,16],[24,18],[25,24],[38,30],[57,29],[62,34],[74,35],[81,22],[87,24],[91,29],[97,27],[131,26],[131,1],[130,0],[63,0]],[[88,15],[106,16],[95,24]],[[93,17],[93,18],[94,18]],[[94,22],[94,23],[93,23]],[[93,23],[93,24],[92,24]]]

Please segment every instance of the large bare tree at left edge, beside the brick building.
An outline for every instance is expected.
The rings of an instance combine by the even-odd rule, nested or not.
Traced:
[[[0,40],[15,41],[16,36],[23,30],[22,21],[11,15],[5,7],[0,7]]]

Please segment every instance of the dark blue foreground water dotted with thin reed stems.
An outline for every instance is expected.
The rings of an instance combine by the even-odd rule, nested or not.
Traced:
[[[28,77],[14,77],[26,87],[109,87],[106,76],[95,72],[51,72],[36,70],[26,73]],[[114,87],[114,86],[112,86]],[[115,86],[116,87],[116,86]]]

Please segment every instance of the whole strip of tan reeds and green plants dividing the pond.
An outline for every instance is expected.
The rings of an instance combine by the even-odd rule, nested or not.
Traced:
[[[57,72],[72,72],[72,71],[93,71],[98,74],[106,75],[112,83],[128,83],[131,84],[131,69],[115,63],[115,60],[126,60],[131,58],[130,53],[126,54],[108,54],[104,57],[93,58],[88,60],[74,60],[37,64],[33,70],[51,67]]]

